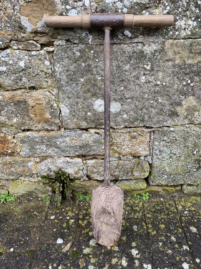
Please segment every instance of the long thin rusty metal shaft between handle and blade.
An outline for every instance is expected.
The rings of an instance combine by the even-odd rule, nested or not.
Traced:
[[[104,182],[110,186],[110,28],[106,27],[104,38]]]

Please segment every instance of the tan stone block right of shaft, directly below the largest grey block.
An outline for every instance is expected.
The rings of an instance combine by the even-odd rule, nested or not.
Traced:
[[[145,128],[122,128],[111,130],[113,154],[148,156],[150,130]]]

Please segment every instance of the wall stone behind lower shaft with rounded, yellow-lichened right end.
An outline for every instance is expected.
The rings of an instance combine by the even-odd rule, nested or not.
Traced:
[[[104,160],[87,160],[87,176],[92,180],[104,179]],[[110,180],[140,179],[149,174],[147,161],[131,157],[130,160],[110,161]]]

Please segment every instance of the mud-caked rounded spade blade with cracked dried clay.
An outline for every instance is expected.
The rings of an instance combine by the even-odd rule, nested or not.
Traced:
[[[124,191],[116,186],[97,187],[91,192],[91,222],[96,242],[115,245],[121,235]]]

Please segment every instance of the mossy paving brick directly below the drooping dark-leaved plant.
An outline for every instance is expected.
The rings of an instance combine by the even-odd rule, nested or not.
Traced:
[[[47,219],[54,217],[54,219],[66,220],[78,217],[78,203],[75,200],[62,200],[59,209],[56,209],[53,202],[51,202]]]

